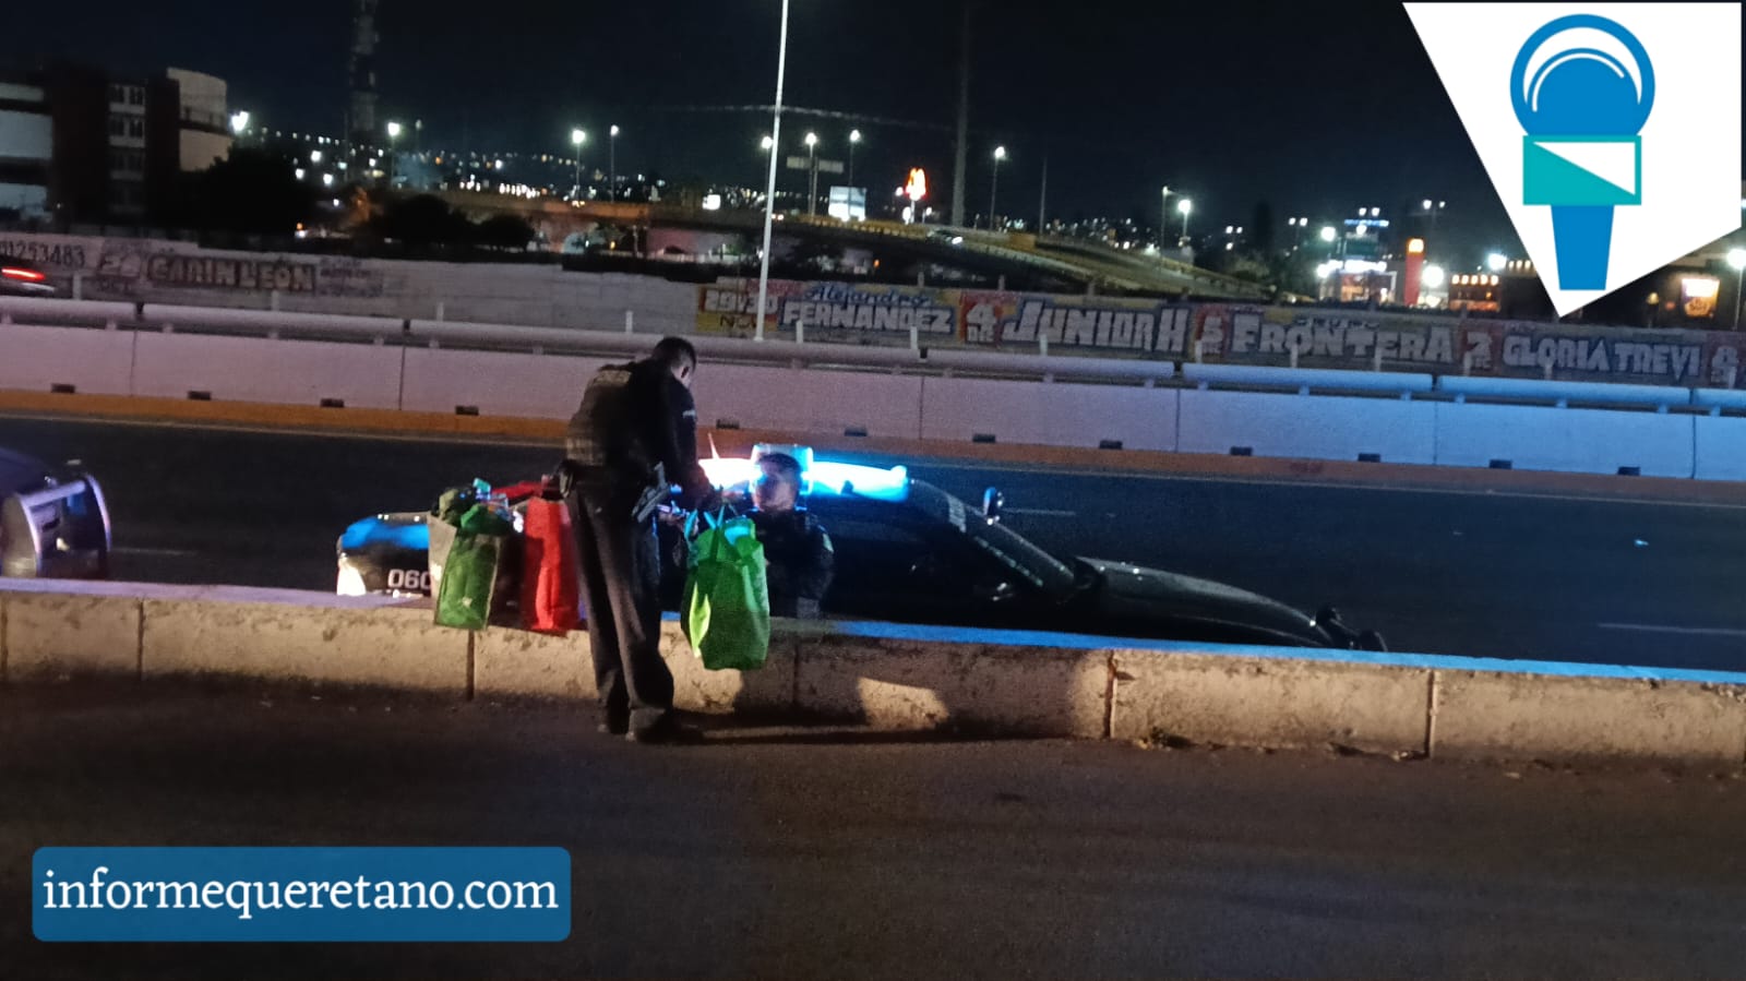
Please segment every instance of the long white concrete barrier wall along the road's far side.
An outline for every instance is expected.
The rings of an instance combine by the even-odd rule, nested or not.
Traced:
[[[391,332],[393,333],[393,332]],[[604,358],[0,325],[0,389],[567,419]],[[746,429],[1746,480],[1746,419],[1020,382],[709,361],[698,422]]]

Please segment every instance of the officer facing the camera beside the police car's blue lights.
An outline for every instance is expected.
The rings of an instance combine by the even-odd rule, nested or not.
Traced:
[[[765,546],[770,616],[819,616],[831,588],[836,553],[819,518],[800,506],[800,463],[787,454],[758,457],[753,482],[753,524]]]

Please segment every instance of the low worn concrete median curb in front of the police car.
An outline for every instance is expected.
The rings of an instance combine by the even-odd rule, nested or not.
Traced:
[[[697,712],[894,731],[1336,747],[1435,759],[1746,763],[1746,674],[791,623],[758,672],[662,653]],[[592,702],[588,639],[431,623],[428,602],[0,581],[0,684],[178,676]]]

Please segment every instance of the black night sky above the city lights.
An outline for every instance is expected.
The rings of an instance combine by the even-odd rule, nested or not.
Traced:
[[[761,183],[768,117],[679,108],[772,101],[779,0],[381,7],[382,113],[423,119],[426,147],[567,152],[583,126],[604,168],[616,122],[622,173]],[[269,127],[339,134],[349,16],[347,0],[82,0],[37,7],[33,30],[0,37],[0,63],[210,72]],[[842,159],[859,126],[873,199],[917,164],[950,190],[957,28],[952,0],[794,0],[789,105],[863,119],[789,117],[789,152],[815,129],[821,155]],[[1519,248],[1399,2],[988,0],[973,65],[973,211],[1004,143],[1000,211],[1016,216],[1035,216],[1048,157],[1051,218],[1151,223],[1168,183],[1194,199],[1191,230],[1248,223],[1268,201],[1283,237],[1290,215],[1433,197],[1449,209],[1432,251],[1451,265]]]

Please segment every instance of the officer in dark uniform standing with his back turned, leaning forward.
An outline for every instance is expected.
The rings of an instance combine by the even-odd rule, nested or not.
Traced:
[[[697,351],[663,339],[643,361],[601,368],[569,421],[566,499],[581,559],[602,730],[637,742],[697,733],[672,717],[672,672],[660,656],[660,557],[655,508],[679,485],[679,506],[719,499],[697,463],[691,377]]]

